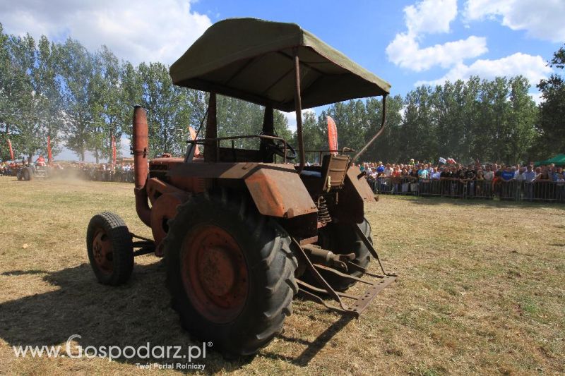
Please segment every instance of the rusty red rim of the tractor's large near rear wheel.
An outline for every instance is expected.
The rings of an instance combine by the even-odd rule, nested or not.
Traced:
[[[181,272],[186,295],[206,319],[222,324],[242,312],[249,273],[242,249],[224,229],[193,229],[182,245]]]

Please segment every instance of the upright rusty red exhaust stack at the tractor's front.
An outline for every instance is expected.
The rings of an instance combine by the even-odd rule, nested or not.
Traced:
[[[151,210],[148,204],[145,182],[148,175],[148,125],[145,109],[141,106],[133,108],[133,133],[132,133],[133,174],[135,178],[136,212],[147,226],[151,226]]]

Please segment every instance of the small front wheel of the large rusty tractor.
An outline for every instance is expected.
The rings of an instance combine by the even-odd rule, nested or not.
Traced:
[[[101,284],[126,283],[133,270],[133,243],[124,221],[117,214],[96,214],[86,231],[88,260]]]

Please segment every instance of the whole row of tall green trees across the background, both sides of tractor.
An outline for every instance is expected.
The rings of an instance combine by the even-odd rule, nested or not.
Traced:
[[[549,63],[562,68],[559,51]],[[388,97],[387,129],[363,159],[433,161],[441,156],[463,162],[516,163],[549,157],[563,151],[559,148],[565,140],[561,76],[552,75],[538,87],[545,99],[541,107],[528,95],[530,83],[521,76],[471,77],[417,87],[404,98]],[[31,159],[46,153],[49,135],[55,155],[64,146],[81,160],[86,152],[97,162],[106,160],[112,135],[118,144],[122,135],[131,136],[134,104],[148,109],[152,156],[182,154],[188,126],[201,126],[206,101],[206,93],[172,85],[162,63],[133,66],[107,47],[92,52],[72,39],[54,43],[47,37],[36,41],[30,35],[7,35],[0,24],[0,159],[9,159],[7,138],[18,158]],[[561,113],[556,115],[559,103]],[[333,104],[319,116],[305,111],[304,143],[308,149],[326,149],[326,116],[332,116],[339,147],[359,149],[379,128],[381,112],[381,102],[374,98]],[[218,98],[220,136],[259,133],[262,121],[263,109],[258,105]],[[275,130],[297,144],[287,118],[278,111]],[[254,146],[249,140],[236,145]],[[308,159],[316,162],[316,153]]]

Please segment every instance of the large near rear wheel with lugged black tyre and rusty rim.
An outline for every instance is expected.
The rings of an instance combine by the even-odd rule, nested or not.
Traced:
[[[290,236],[241,193],[194,195],[165,238],[167,287],[182,326],[224,356],[266,346],[292,313]]]

